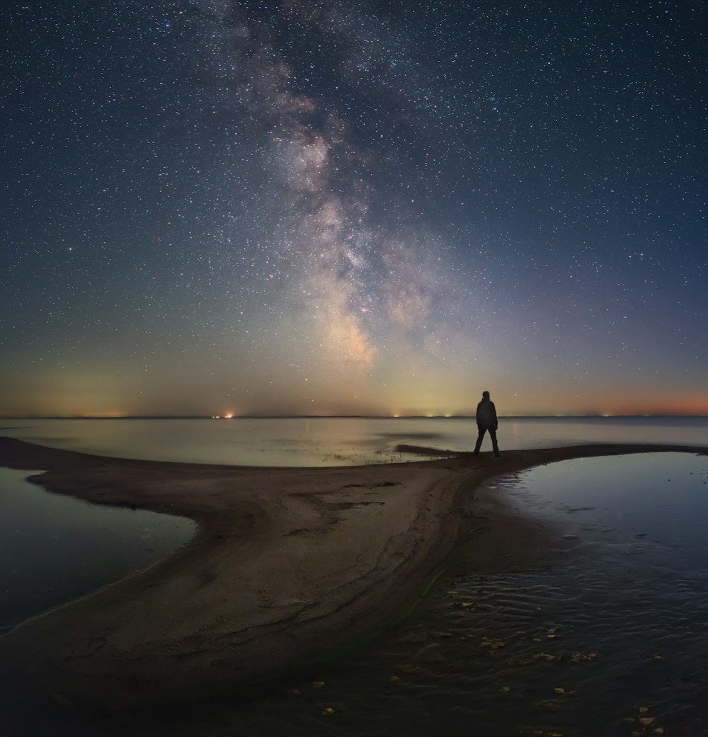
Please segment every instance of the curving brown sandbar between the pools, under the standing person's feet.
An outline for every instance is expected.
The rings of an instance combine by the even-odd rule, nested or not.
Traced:
[[[356,642],[413,601],[455,541],[479,528],[480,482],[550,461],[659,450],[708,453],[608,444],[269,469],[102,458],[2,438],[0,465],[46,469],[31,480],[52,492],[192,517],[200,532],[143,573],[0,638],[0,678],[72,705],[119,707],[272,677]],[[538,528],[502,506],[491,517],[480,570],[543,544]]]

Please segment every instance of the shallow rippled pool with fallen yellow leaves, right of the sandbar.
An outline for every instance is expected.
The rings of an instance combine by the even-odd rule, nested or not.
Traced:
[[[685,453],[504,477],[492,492],[549,531],[529,570],[436,586],[368,646],[250,702],[56,711],[52,734],[705,736],[707,482],[708,458]]]

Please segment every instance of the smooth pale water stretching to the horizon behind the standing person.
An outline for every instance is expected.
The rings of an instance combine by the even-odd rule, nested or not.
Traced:
[[[124,458],[263,465],[349,466],[402,461],[396,445],[474,447],[474,419],[102,419],[0,421],[0,435]],[[708,445],[707,417],[502,418],[503,450],[584,443]],[[488,439],[484,448],[488,449]]]

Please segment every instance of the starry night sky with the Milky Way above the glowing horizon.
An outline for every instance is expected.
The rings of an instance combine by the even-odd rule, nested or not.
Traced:
[[[708,414],[703,1],[2,28],[0,415]]]

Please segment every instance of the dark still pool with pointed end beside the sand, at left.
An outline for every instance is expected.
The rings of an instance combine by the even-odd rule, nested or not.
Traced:
[[[97,506],[0,467],[0,632],[144,570],[192,539],[184,517]]]

